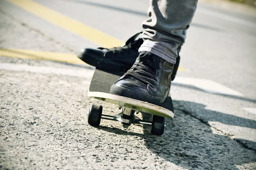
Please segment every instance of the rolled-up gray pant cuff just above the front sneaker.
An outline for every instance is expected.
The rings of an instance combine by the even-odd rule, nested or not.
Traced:
[[[145,41],[144,41],[145,42]],[[156,48],[152,48],[152,47],[148,47],[148,46],[144,46],[144,43],[143,45],[140,46],[139,48],[139,52],[141,51],[147,51],[147,52],[150,52],[154,55],[157,55],[158,57],[166,60],[167,62],[170,62],[172,64],[175,64],[176,63],[176,56],[175,54],[173,54],[173,56],[170,56],[168,55],[168,53],[166,52],[162,52],[164,50],[158,50],[157,47]],[[172,54],[172,52],[169,52]]]

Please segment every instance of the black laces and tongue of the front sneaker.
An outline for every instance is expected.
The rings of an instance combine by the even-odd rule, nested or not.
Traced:
[[[131,76],[143,82],[145,85],[150,85],[152,88],[157,85],[157,70],[159,63],[156,57],[148,54],[140,56],[140,61],[135,62],[134,65],[128,70],[124,77]],[[156,73],[154,74],[154,71]],[[149,89],[148,89],[149,91]]]

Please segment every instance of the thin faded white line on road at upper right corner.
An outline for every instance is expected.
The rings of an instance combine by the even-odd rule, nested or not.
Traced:
[[[236,17],[232,17],[232,16],[229,16],[229,15],[226,15],[226,14],[221,14],[221,13],[211,11],[211,10],[208,10],[208,9],[198,8],[196,12],[201,13],[201,14],[207,14],[207,15],[210,15],[212,17],[216,17],[216,18],[219,18],[219,19],[222,19],[222,20],[227,20],[227,21],[230,21],[230,22],[233,22],[233,23],[244,25],[244,26],[250,26],[252,28],[256,28],[256,23],[246,21],[246,20],[241,20],[241,19],[238,19]]]

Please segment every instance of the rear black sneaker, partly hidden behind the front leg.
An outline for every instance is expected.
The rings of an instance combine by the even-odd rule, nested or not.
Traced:
[[[106,71],[126,72],[134,64],[139,56],[138,49],[142,45],[142,32],[135,34],[122,47],[115,48],[85,48],[82,49],[77,57],[89,65]],[[176,64],[172,73],[174,80],[180,62],[180,56],[176,58]]]

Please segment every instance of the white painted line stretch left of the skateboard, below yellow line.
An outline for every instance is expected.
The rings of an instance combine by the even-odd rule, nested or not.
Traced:
[[[11,64],[11,63],[0,63],[1,70],[12,70],[12,71],[28,71],[32,73],[42,74],[57,74],[72,77],[84,77],[91,78],[93,75],[93,69],[67,69],[67,68],[54,68],[44,66],[32,66],[25,64]]]

